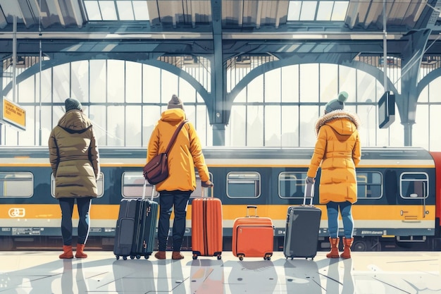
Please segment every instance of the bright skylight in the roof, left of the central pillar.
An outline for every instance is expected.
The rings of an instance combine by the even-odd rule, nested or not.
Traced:
[[[146,0],[83,0],[89,20],[149,20]]]

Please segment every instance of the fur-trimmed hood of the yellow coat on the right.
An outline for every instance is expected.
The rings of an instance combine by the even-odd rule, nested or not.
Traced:
[[[322,125],[329,125],[340,135],[351,135],[359,128],[360,119],[359,116],[352,112],[339,109],[328,112],[328,114],[324,114],[318,118],[316,122],[316,135]]]

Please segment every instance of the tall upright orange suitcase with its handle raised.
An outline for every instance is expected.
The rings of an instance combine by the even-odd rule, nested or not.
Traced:
[[[207,194],[202,188],[202,197],[192,200],[192,251],[193,259],[201,256],[222,255],[222,202]]]

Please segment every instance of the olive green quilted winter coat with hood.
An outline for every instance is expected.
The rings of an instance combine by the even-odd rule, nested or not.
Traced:
[[[77,109],[64,114],[49,136],[55,197],[97,197],[99,151],[92,123]]]

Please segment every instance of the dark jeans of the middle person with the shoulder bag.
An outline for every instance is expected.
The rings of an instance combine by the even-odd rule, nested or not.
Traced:
[[[185,217],[190,191],[161,191],[159,195],[159,224],[158,243],[159,251],[166,251],[168,230],[170,229],[170,214],[174,209],[173,221],[173,251],[180,251],[185,233]],[[174,208],[173,208],[174,207]]]

